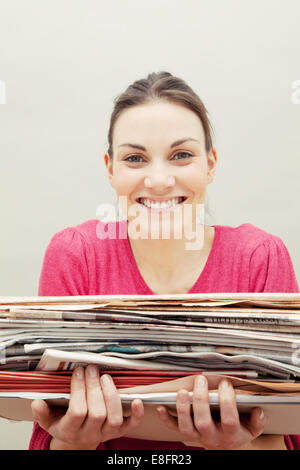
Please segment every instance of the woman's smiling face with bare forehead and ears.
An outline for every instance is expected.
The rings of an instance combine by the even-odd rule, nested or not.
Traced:
[[[166,101],[124,110],[114,127],[113,159],[105,155],[110,184],[126,198],[128,220],[137,204],[147,217],[170,215],[174,204],[203,204],[216,162],[215,151],[206,152],[197,114]]]

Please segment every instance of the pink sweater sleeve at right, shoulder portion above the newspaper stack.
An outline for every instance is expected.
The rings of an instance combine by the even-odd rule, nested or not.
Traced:
[[[279,237],[268,238],[254,250],[249,292],[299,293],[291,257]]]

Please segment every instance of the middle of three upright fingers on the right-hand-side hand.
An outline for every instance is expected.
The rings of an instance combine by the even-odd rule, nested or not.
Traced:
[[[211,416],[207,379],[204,375],[195,377],[193,390],[194,424],[206,440],[214,439],[217,428]]]

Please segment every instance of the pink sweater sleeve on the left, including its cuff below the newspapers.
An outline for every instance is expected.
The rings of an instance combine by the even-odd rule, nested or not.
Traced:
[[[46,249],[39,296],[88,295],[88,269],[83,237],[73,228],[56,233]],[[34,423],[29,450],[49,450],[52,436]]]

